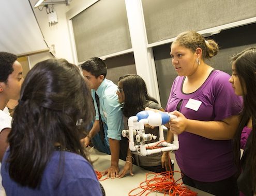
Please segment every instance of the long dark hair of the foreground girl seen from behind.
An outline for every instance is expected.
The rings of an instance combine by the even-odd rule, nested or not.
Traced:
[[[80,134],[92,111],[91,90],[77,66],[65,59],[37,63],[22,85],[8,136],[10,177],[22,186],[39,187],[56,144],[87,159]]]

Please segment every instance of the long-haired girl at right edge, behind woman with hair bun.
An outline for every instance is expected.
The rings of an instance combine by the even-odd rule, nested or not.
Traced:
[[[240,195],[256,194],[256,48],[251,47],[232,57],[230,83],[235,94],[243,95],[244,108],[235,134],[235,160],[241,171],[237,185]],[[244,150],[240,160],[240,149]]]

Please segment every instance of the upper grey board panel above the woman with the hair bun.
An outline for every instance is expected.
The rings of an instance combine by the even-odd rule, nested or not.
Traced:
[[[255,0],[142,0],[148,43],[256,17]]]

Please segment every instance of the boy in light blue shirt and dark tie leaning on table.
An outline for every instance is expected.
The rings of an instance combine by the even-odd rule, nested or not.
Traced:
[[[118,159],[119,157],[125,159],[126,154],[123,156],[122,152],[127,152],[123,148],[121,154],[119,152],[123,113],[116,95],[117,86],[111,80],[106,79],[107,66],[100,58],[94,57],[87,60],[81,68],[84,77],[91,85],[96,111],[93,127],[83,141],[87,146],[92,139],[97,150],[111,154],[111,166],[104,173],[107,173],[107,177],[115,178],[119,172]]]

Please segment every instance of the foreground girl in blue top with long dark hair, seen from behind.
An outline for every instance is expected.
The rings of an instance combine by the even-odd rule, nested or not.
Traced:
[[[92,98],[79,68],[49,59],[28,72],[1,174],[7,195],[102,195],[80,143]]]

